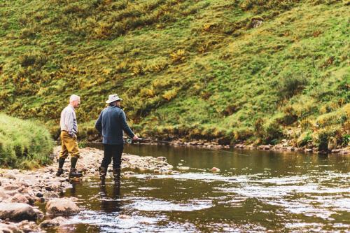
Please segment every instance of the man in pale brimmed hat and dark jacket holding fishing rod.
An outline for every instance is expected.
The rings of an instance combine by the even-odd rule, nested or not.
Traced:
[[[106,101],[109,106],[102,110],[95,124],[96,129],[102,134],[102,143],[104,144],[104,158],[101,167],[99,167],[100,178],[104,181],[107,168],[113,159],[113,176],[117,185],[120,185],[120,164],[124,148],[123,131],[130,138],[139,139],[127,125],[125,113],[120,108],[120,101],[122,100],[118,97],[118,94],[109,95],[109,99]]]

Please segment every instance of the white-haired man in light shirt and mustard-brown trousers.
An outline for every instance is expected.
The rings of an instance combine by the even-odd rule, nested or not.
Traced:
[[[63,109],[61,113],[61,120],[59,125],[61,126],[61,141],[62,148],[59,153],[58,170],[56,176],[63,174],[63,164],[68,154],[71,154],[71,170],[69,171],[69,178],[81,177],[83,174],[76,171],[76,162],[78,161],[79,148],[78,141],[76,140],[76,134],[78,133],[78,123],[76,122],[75,109],[80,104],[80,97],[76,94],[72,94],[69,99],[69,105]]]

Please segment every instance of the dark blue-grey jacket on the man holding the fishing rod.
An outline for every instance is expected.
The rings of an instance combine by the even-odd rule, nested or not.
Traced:
[[[131,138],[135,135],[129,125],[127,125],[127,118],[124,111],[118,106],[104,108],[101,114],[99,114],[95,127],[102,134],[102,143],[104,144],[123,144],[123,130]]]

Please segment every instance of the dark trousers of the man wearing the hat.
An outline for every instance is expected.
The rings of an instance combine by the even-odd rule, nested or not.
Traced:
[[[120,169],[122,163],[122,153],[124,144],[120,145],[107,145],[104,144],[104,159],[101,162],[101,167],[108,168],[113,158],[113,169]]]

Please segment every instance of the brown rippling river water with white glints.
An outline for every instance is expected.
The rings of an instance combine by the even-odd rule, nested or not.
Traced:
[[[349,156],[145,145],[125,153],[190,170],[134,174],[120,189],[97,177],[73,183],[64,196],[83,211],[53,232],[350,232]]]

